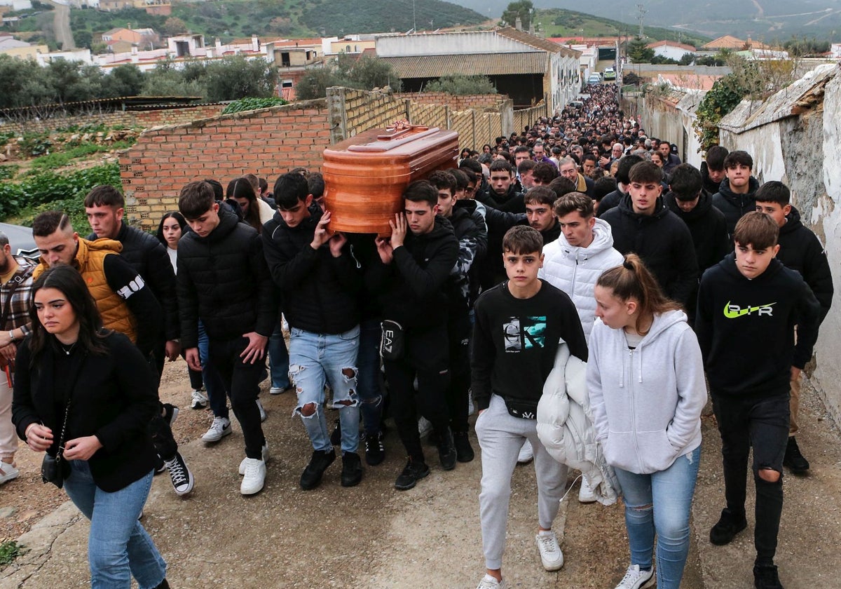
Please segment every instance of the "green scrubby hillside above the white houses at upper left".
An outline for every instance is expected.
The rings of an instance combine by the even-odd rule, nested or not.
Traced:
[[[415,0],[418,30],[473,26],[484,20],[482,14],[456,4]],[[82,46],[90,46],[93,33],[128,25],[150,27],[161,35],[172,34],[177,30],[177,21],[192,33],[227,41],[251,34],[303,37],[406,31],[413,26],[413,14],[412,0],[173,0],[172,18],[152,16],[135,8],[112,13],[71,11],[73,36]],[[40,21],[32,19],[21,30],[33,30],[33,24]]]

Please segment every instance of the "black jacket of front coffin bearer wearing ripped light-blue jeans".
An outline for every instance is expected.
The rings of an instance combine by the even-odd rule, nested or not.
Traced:
[[[362,283],[350,246],[333,257],[325,244],[309,244],[321,220],[321,209],[289,227],[279,213],[263,226],[263,253],[272,281],[281,290],[283,313],[290,326],[313,333],[343,333],[359,324],[358,291]]]

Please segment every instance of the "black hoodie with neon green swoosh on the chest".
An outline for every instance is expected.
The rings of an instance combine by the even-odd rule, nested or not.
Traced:
[[[812,289],[779,260],[747,279],[728,254],[704,273],[698,290],[695,330],[710,390],[787,394],[791,367],[802,369],[812,358],[820,310]]]

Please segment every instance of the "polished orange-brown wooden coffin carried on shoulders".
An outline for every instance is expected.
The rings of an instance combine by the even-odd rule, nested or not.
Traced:
[[[403,191],[435,170],[456,167],[458,131],[395,125],[368,130],[324,151],[330,230],[391,235]]]

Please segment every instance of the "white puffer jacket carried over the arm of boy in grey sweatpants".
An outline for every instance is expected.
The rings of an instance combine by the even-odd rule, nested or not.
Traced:
[[[616,502],[619,481],[595,441],[587,395],[587,363],[561,342],[537,403],[537,437],[553,459],[580,470],[603,505]]]

